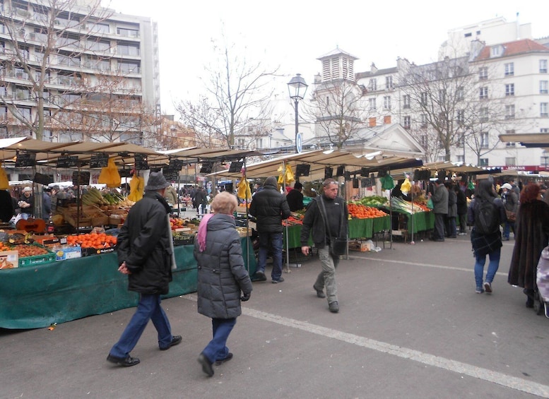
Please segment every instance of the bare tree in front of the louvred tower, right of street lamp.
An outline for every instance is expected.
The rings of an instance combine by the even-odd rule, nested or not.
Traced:
[[[342,148],[364,126],[362,119],[362,90],[354,82],[330,81],[314,93],[314,114],[317,125],[329,143]]]

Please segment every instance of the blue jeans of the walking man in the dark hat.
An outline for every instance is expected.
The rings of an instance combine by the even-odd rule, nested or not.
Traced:
[[[131,317],[118,342],[110,350],[110,354],[116,357],[127,357],[137,345],[149,320],[153,321],[158,332],[158,346],[170,345],[173,338],[172,328],[164,309],[160,306],[160,294],[141,294],[134,316]]]

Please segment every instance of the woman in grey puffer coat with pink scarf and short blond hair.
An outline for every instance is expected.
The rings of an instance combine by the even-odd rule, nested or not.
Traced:
[[[240,235],[232,217],[237,206],[237,198],[226,191],[215,196],[213,214],[202,218],[194,243],[199,269],[198,310],[212,319],[213,339],[198,359],[208,376],[213,376],[213,363],[220,365],[232,359],[227,339],[242,313],[240,301],[247,301],[252,293],[252,280],[244,268]]]

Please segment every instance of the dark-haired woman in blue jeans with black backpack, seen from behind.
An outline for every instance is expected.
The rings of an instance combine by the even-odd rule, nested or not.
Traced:
[[[486,231],[485,223],[482,222],[480,212],[488,207],[492,208],[490,215],[490,226],[492,228]],[[484,213],[484,212],[483,212]],[[495,273],[500,267],[500,254],[502,249],[502,234],[500,225],[507,218],[505,217],[505,208],[500,198],[494,190],[494,184],[491,180],[481,180],[475,189],[475,198],[467,210],[467,220],[473,226],[471,230],[471,244],[473,245],[473,253],[475,256],[475,282],[476,293],[492,292],[492,281]],[[488,222],[488,220],[485,220]],[[490,258],[486,278],[483,286],[484,265],[486,263],[486,255]]]

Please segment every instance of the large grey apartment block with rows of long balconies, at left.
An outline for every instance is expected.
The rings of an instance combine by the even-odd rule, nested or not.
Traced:
[[[158,27],[69,0],[0,0],[0,137],[154,146]]]

